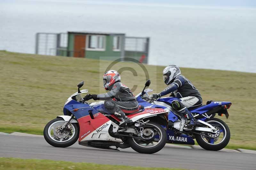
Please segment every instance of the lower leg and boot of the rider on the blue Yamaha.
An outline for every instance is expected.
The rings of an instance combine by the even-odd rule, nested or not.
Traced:
[[[191,128],[191,127],[195,127],[196,125],[199,124],[199,122],[194,118],[194,116],[192,115],[192,113],[187,109],[187,107],[182,104],[179,100],[173,100],[172,101],[172,107],[180,112],[181,114],[183,114],[184,116],[187,117],[188,120],[190,120],[187,128]]]

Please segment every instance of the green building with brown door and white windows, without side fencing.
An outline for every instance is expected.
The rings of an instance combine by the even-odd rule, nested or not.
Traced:
[[[68,56],[73,57],[116,57],[124,56],[125,34],[68,32]]]

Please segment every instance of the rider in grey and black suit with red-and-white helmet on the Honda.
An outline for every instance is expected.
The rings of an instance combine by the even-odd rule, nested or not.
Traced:
[[[115,70],[109,70],[103,75],[103,86],[109,92],[103,94],[87,94],[85,100],[105,100],[105,109],[114,113],[122,122],[119,127],[126,126],[130,122],[125,113],[134,113],[139,110],[138,102],[131,90],[121,83],[121,76]]]

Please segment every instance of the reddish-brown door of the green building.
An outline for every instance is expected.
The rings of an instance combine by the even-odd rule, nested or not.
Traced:
[[[75,35],[74,57],[85,57],[86,35]]]

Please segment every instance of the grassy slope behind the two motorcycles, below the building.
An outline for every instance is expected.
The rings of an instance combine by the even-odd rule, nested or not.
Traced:
[[[170,64],[168,61],[167,64]],[[41,56],[0,51],[0,131],[43,134],[45,124],[62,115],[66,99],[77,91],[84,80],[84,89],[91,94],[105,92],[102,75],[111,61],[86,58]],[[125,68],[124,68],[125,67]],[[145,65],[150,75],[150,88],[160,92],[163,66]],[[130,71],[134,69],[138,75]],[[135,63],[116,63],[112,69],[121,71],[122,82],[141,91],[146,81],[142,68]],[[121,69],[121,70],[120,70]],[[232,71],[181,68],[203,96],[203,101],[231,101],[227,122],[231,131],[229,148],[256,148],[254,116],[256,74]],[[82,89],[83,89],[82,88]]]

